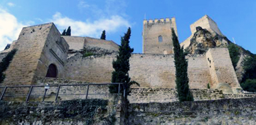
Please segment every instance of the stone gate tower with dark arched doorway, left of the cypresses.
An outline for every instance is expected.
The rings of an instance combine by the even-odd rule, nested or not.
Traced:
[[[37,76],[64,76],[69,45],[53,23],[23,28],[15,49],[1,86],[34,84]]]

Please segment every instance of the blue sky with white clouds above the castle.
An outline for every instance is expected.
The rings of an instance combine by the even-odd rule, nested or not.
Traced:
[[[0,49],[18,39],[23,26],[53,22],[63,31],[71,25],[72,35],[107,39],[120,44],[132,28],[131,46],[142,52],[143,20],[176,17],[179,41],[191,35],[189,25],[209,15],[228,39],[256,53],[255,0],[1,0]]]

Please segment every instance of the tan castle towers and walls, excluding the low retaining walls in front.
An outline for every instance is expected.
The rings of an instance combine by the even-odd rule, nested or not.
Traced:
[[[192,36],[197,26],[223,36],[207,15],[190,25]],[[143,54],[132,54],[129,70],[130,77],[140,87],[175,88],[171,28],[178,35],[174,17],[143,21]],[[192,36],[181,46],[189,47]],[[118,44],[89,37],[61,36],[53,23],[46,23],[23,28],[10,49],[1,52],[1,58],[13,48],[18,52],[6,70],[1,86],[35,84],[37,77],[110,83]],[[79,53],[95,48],[108,54],[83,57]],[[212,89],[221,89],[225,93],[241,92],[227,48],[210,48],[204,55],[187,56],[187,60],[190,89],[207,89],[209,84]]]

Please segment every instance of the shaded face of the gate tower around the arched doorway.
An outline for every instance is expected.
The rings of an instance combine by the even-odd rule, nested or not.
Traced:
[[[57,77],[64,77],[64,65],[67,61],[67,52],[69,45],[55,25],[52,25],[48,38],[45,41],[45,47],[42,49],[42,55],[39,58],[37,72],[35,76],[45,77],[50,64],[56,65]]]

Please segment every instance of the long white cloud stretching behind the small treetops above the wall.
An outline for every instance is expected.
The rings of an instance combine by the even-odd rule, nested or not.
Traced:
[[[56,12],[51,21],[58,26],[59,30],[71,26],[72,36],[99,37],[103,30],[106,30],[108,33],[115,33],[119,28],[128,28],[130,26],[129,22],[119,15],[83,22],[72,20],[69,17],[62,16],[60,12]]]

